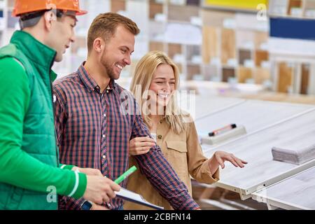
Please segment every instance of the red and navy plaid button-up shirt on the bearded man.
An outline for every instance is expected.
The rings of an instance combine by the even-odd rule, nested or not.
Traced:
[[[130,139],[150,136],[141,115],[131,113],[139,111],[132,94],[113,80],[102,94],[83,65],[56,80],[53,90],[61,162],[99,169],[109,179],[117,179],[129,168]],[[126,109],[131,110],[126,113]],[[135,158],[141,172],[175,209],[199,208],[158,146]],[[127,180],[120,183],[126,185]],[[60,208],[80,209],[83,201],[62,197]],[[123,200],[111,200],[111,209],[122,206]]]

